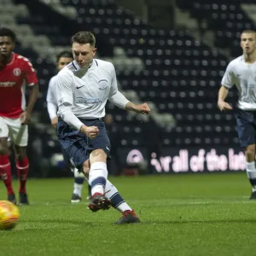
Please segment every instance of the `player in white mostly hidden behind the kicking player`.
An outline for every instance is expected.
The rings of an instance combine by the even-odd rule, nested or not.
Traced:
[[[67,64],[73,61],[73,55],[71,51],[62,51],[59,55],[57,55],[57,70],[60,71],[63,67],[66,67]],[[58,102],[57,102],[57,87],[55,84],[56,76],[52,77],[49,80],[49,87],[47,91],[47,109],[49,113],[49,119],[51,122],[51,125],[54,127],[57,126],[58,123],[58,117],[57,117],[57,111],[58,111]],[[64,154],[64,159],[66,159]],[[69,160],[66,160],[67,164]],[[84,184],[84,174],[81,172],[77,172],[76,168],[73,168],[70,166],[70,169],[73,172],[74,176],[74,183],[73,183],[73,195],[71,197],[71,202],[76,203],[82,200],[82,189]],[[90,196],[90,186],[89,186],[89,196]]]

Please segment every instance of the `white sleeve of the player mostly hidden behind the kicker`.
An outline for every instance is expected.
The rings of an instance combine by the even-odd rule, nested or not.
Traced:
[[[57,117],[57,111],[58,111],[58,105],[57,105],[57,99],[56,99],[57,96],[55,93],[56,84],[54,83],[54,81],[55,79],[53,78],[49,80],[49,86],[48,86],[47,96],[46,96],[49,119],[55,119]]]

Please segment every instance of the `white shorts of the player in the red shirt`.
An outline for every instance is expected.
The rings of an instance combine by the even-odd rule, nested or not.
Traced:
[[[21,125],[20,118],[10,119],[0,116],[0,137],[10,137],[15,145],[26,147],[28,141],[27,125]]]

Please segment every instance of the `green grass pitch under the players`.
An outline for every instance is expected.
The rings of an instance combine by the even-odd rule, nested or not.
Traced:
[[[120,217],[114,209],[88,211],[87,185],[84,202],[72,205],[72,178],[31,179],[31,205],[20,207],[15,230],[0,231],[0,255],[256,255],[256,201],[248,201],[245,173],[110,180],[142,224],[113,225]]]

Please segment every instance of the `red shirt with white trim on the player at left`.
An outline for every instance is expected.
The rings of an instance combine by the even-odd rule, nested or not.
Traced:
[[[38,78],[28,59],[15,53],[12,61],[0,70],[0,116],[18,118],[26,109],[26,85],[38,84]]]

